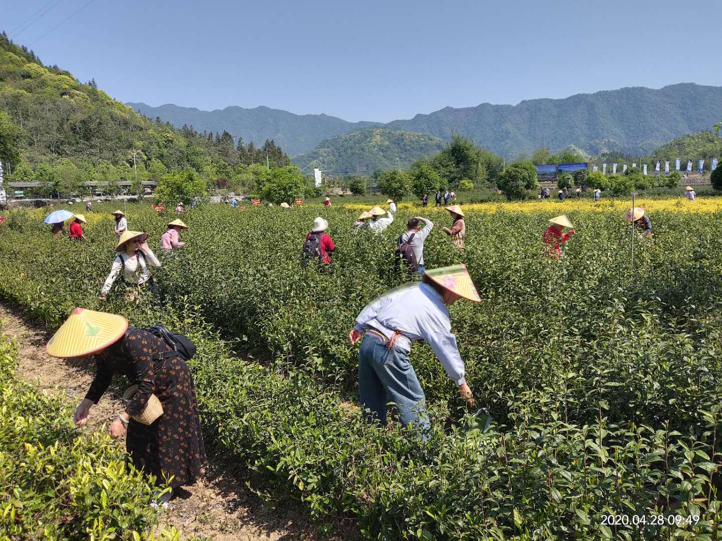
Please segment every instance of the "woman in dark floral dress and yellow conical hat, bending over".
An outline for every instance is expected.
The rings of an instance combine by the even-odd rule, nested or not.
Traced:
[[[126,447],[133,465],[155,475],[157,485],[171,478],[173,490],[193,485],[206,462],[196,388],[186,361],[162,338],[129,327],[125,317],[76,308],[45,346],[48,355],[61,359],[95,359],[97,370],[90,389],[73,415],[84,426],[113,379],[123,374],[131,387],[125,410],[109,432],[119,438],[127,429]]]

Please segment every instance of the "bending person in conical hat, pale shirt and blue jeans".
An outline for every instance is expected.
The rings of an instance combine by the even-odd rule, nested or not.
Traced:
[[[464,264],[426,271],[422,281],[391,289],[362,309],[349,340],[361,341],[359,395],[367,423],[386,425],[386,404],[393,402],[401,424],[412,423],[426,438],[425,394],[408,359],[418,340],[431,346],[461,396],[474,407],[447,308],[458,299],[481,301]]]

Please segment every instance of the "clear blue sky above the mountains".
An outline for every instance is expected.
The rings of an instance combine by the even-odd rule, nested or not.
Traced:
[[[388,121],[447,105],[722,85],[715,0],[88,1],[0,0],[0,27],[123,102]]]

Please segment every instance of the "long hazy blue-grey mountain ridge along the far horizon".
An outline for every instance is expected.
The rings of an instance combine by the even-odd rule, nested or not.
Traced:
[[[648,154],[671,139],[710,128],[722,110],[722,87],[694,83],[661,89],[625,87],[559,100],[524,100],[518,105],[444,107],[386,124],[350,123],[328,115],[295,115],[268,107],[201,111],[177,105],[126,105],[175,126],[227,130],[256,144],[272,138],[291,156],[307,152],[327,138],[373,127],[427,133],[444,140],[458,133],[507,158],[531,154],[540,146],[557,151],[571,144],[590,154]]]

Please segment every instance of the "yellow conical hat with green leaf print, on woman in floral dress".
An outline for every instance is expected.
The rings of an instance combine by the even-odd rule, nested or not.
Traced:
[[[76,308],[48,340],[45,351],[62,359],[84,357],[116,343],[126,330],[128,320],[123,316]]]

